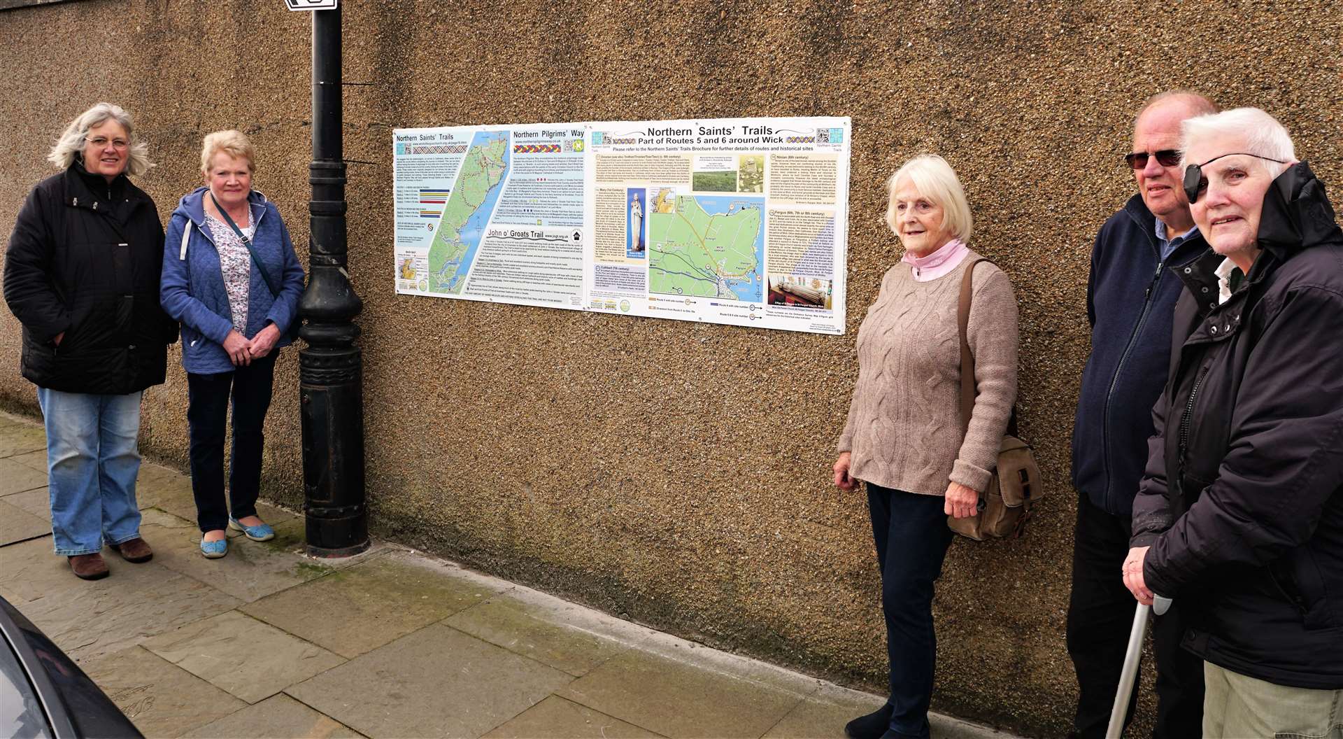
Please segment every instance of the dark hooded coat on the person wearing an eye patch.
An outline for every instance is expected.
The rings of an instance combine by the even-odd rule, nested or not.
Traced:
[[[1171,378],[1133,501],[1147,586],[1183,645],[1280,685],[1343,688],[1343,232],[1304,163],[1264,198],[1254,261],[1218,305],[1179,267]]]

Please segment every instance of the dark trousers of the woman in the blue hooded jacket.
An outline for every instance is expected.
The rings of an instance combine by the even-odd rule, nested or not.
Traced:
[[[200,531],[228,525],[235,519],[257,515],[261,493],[262,425],[270,408],[275,355],[232,372],[187,374],[187,425],[191,429],[191,490],[196,496],[196,524]],[[224,421],[230,395],[234,407],[234,445],[228,466],[228,507],[224,507]]]

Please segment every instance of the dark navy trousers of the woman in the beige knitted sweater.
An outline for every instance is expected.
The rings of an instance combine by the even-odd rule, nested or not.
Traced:
[[[928,703],[937,661],[932,583],[951,546],[941,496],[921,496],[868,484],[872,537],[881,567],[881,609],[890,657],[890,730],[928,736]]]

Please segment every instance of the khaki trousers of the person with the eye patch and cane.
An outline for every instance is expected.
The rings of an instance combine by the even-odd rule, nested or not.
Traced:
[[[1343,739],[1343,691],[1275,685],[1203,662],[1203,736]]]

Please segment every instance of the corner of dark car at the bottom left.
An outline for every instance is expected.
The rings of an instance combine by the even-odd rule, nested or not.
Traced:
[[[141,738],[59,646],[0,598],[0,738]]]

